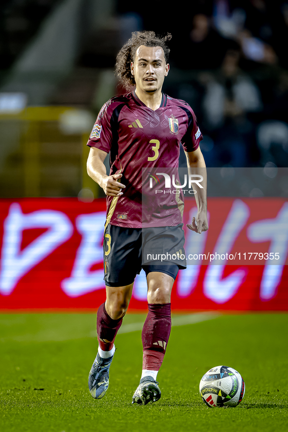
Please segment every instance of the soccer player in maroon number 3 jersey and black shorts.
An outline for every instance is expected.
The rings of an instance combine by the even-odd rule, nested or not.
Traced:
[[[106,301],[97,311],[99,347],[89,374],[89,390],[96,399],[108,389],[115,336],[141,267],[147,277],[148,315],[142,330],[142,376],[132,403],[146,405],[161,396],[156,376],[171,330],[171,291],[179,268],[186,267],[186,259],[143,265],[141,237],[151,225],[148,234],[145,231],[146,238],[152,239],[152,243],[154,240],[154,244],[164,239],[165,250],[185,258],[183,203],[180,194],[166,194],[162,204],[159,202],[160,217],[158,213],[152,219],[148,217],[144,228],[141,170],[177,169],[180,144],[188,167],[205,169],[199,148],[202,135],[192,109],[186,102],[162,94],[163,81],[169,73],[170,50],[166,42],[170,39],[170,34],[161,38],[152,31],[132,34],[116,59],[116,73],[131,92],[113,97],[103,106],[87,143],[88,174],[107,195],[103,244]],[[107,176],[104,159],[109,152],[111,169]],[[187,226],[201,233],[208,229],[206,187],[197,188],[195,197],[196,220],[193,218]]]

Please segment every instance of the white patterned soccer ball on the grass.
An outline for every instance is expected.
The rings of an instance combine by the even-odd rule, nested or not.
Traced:
[[[235,369],[216,366],[202,377],[199,391],[209,407],[236,407],[243,399],[245,383]]]

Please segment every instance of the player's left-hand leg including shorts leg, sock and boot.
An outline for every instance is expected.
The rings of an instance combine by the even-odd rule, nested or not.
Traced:
[[[104,281],[106,301],[97,311],[98,353],[89,374],[89,390],[100,399],[109,385],[109,368],[115,353],[114,340],[132,295],[136,273],[141,269],[137,245],[141,230],[108,225],[104,233]],[[139,248],[138,248],[139,249]]]

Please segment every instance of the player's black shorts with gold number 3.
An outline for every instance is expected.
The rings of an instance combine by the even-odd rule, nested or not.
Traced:
[[[105,284],[130,285],[141,268],[146,276],[157,271],[175,279],[179,268],[186,268],[182,226],[125,228],[107,225],[103,242]]]

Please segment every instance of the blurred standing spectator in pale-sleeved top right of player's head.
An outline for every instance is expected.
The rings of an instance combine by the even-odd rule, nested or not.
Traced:
[[[258,88],[239,68],[240,49],[234,45],[224,57],[217,74],[202,73],[205,87],[203,125],[215,142],[213,165],[253,165],[258,158],[254,125],[248,114],[262,108]]]

